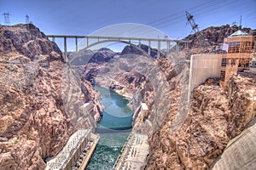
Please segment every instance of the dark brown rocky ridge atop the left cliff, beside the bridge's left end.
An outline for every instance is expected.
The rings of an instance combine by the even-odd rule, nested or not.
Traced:
[[[29,59],[46,55],[46,60],[62,60],[61,50],[54,42],[49,42],[44,33],[32,24],[1,26],[0,53],[18,52]]]

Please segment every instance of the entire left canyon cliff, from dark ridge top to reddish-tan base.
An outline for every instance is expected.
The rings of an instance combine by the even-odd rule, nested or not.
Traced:
[[[73,82],[69,97],[61,50],[37,27],[0,26],[0,37],[0,169],[44,169],[76,130],[70,102],[96,103],[96,95]]]

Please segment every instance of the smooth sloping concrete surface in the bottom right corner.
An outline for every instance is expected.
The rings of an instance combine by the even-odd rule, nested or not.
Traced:
[[[256,168],[256,123],[230,140],[212,170]]]

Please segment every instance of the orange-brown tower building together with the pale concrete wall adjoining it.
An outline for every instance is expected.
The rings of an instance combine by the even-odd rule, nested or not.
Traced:
[[[239,29],[224,39],[224,52],[221,54],[195,54],[190,59],[189,94],[207,78],[219,78],[220,86],[226,90],[227,84],[239,71],[253,71],[254,37]]]

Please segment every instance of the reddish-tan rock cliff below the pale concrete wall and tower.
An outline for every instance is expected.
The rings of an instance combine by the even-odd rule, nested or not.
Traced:
[[[255,116],[255,80],[252,75],[232,77],[228,94],[212,80],[195,88],[183,126],[171,133],[177,112],[173,103],[166,121],[149,139],[147,169],[208,169]],[[172,99],[178,98],[174,91]]]

